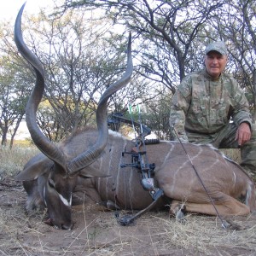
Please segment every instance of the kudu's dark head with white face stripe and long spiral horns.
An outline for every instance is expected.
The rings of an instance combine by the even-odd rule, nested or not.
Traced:
[[[98,137],[96,143],[81,152],[73,159],[68,159],[67,155],[54,143],[50,142],[44,136],[42,131],[38,128],[36,113],[38,104],[40,103],[44,94],[44,67],[27,48],[23,41],[21,32],[21,16],[25,3],[20,9],[19,14],[15,20],[15,43],[19,49],[20,54],[28,61],[36,73],[36,84],[32,90],[32,95],[26,105],[26,125],[31,134],[32,141],[40,149],[40,151],[47,157],[52,165],[48,168],[37,168],[33,170],[28,168],[28,171],[20,172],[16,177],[18,180],[26,181],[38,178],[38,183],[43,184],[43,194],[45,207],[48,208],[49,218],[52,224],[57,228],[71,229],[73,226],[71,218],[71,203],[72,191],[76,185],[77,176],[86,167],[90,166],[101,154],[106,144],[108,143],[108,123],[107,123],[107,102],[108,98],[117,90],[123,88],[129,83],[132,73],[131,60],[131,35],[128,43],[128,57],[125,74],[119,81],[108,87],[103,93],[96,110],[96,125],[98,129]],[[45,158],[45,157],[44,157]],[[42,159],[39,158],[39,161]],[[35,163],[37,166],[38,163]],[[84,170],[83,170],[84,172]],[[84,176],[97,177],[98,173],[83,173]],[[104,174],[102,175],[104,176]]]

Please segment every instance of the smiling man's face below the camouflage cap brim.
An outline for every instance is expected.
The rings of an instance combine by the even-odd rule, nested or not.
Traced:
[[[217,51],[210,51],[205,57],[207,73],[213,79],[217,79],[227,65],[227,55],[221,55]]]

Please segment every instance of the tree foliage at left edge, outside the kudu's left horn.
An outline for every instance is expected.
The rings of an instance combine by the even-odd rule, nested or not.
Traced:
[[[27,71],[23,61],[15,55],[13,38],[9,26],[0,26],[0,133],[1,144],[6,146],[7,135],[11,135],[9,147],[13,146],[16,131],[23,119],[26,101],[30,94],[29,81],[24,79]],[[29,78],[29,76],[28,76]]]

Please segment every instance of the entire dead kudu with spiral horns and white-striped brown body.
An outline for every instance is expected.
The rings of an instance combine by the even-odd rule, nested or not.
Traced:
[[[27,209],[47,207],[52,224],[70,229],[73,226],[72,195],[81,182],[84,182],[84,192],[92,192],[94,200],[114,201],[120,208],[139,210],[148,207],[152,198],[140,183],[141,174],[133,167],[121,168],[123,163],[131,162],[131,155],[122,156],[122,152],[131,152],[134,143],[117,133],[108,134],[106,116],[109,96],[124,87],[131,78],[131,38],[125,74],[105,91],[98,104],[97,130],[84,128],[55,145],[44,137],[36,123],[38,104],[44,93],[44,68],[23,42],[23,9],[24,5],[15,21],[15,43],[36,73],[36,85],[26,107],[26,124],[33,142],[42,152],[29,160],[17,176],[27,192]],[[256,210],[253,181],[239,165],[207,145],[183,143],[183,146],[189,153],[189,159],[177,142],[162,141],[147,146],[148,162],[156,166],[155,181],[172,199],[172,206],[183,201],[190,212],[216,215],[210,195],[220,215],[245,215]],[[190,160],[209,195],[199,183]],[[244,203],[237,200],[240,198]]]

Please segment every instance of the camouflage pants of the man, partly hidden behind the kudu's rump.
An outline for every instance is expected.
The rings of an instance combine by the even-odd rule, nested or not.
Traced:
[[[215,148],[239,148],[236,138],[237,126],[230,123],[217,133],[205,135],[187,132],[189,143],[211,143]],[[256,127],[252,127],[251,140],[241,146],[241,164],[246,172],[256,180]]]

